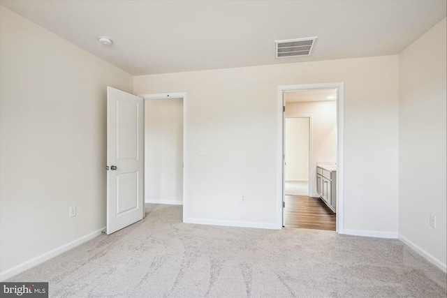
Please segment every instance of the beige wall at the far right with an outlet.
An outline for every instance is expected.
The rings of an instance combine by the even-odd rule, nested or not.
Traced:
[[[446,19],[400,54],[399,233],[446,271]],[[429,225],[430,214],[437,227]]]

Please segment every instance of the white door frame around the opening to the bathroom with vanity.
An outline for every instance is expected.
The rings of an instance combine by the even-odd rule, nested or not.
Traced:
[[[277,93],[277,225],[283,224],[284,198],[284,91],[337,89],[337,221],[335,230],[344,234],[344,83],[280,85]]]

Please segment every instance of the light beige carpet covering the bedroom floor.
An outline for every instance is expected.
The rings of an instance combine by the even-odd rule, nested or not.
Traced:
[[[446,274],[397,239],[181,223],[182,207],[101,235],[9,281],[50,297],[446,297]]]

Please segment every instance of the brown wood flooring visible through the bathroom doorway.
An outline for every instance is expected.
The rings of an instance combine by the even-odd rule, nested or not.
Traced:
[[[286,228],[335,231],[335,213],[320,198],[286,195]]]

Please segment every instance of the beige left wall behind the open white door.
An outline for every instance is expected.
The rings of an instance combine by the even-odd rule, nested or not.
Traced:
[[[105,87],[132,76],[1,6],[0,38],[4,272],[105,226]]]

